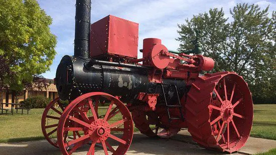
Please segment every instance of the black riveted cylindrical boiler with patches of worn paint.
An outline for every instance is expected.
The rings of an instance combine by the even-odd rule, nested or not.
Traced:
[[[89,61],[68,55],[62,58],[56,73],[56,86],[61,99],[72,100],[87,92],[102,91],[121,96],[122,101],[135,103],[136,96],[146,92],[160,93],[158,103],[165,104],[160,84],[149,82],[147,67],[134,64],[122,67],[120,65],[125,64],[102,60],[90,61],[88,66]],[[182,97],[186,90],[185,80],[164,78],[163,82],[169,83],[164,86],[167,102],[177,102],[177,91]]]

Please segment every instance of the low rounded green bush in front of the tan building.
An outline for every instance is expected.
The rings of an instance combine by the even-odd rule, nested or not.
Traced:
[[[36,96],[22,100],[20,101],[20,103],[24,104],[24,108],[45,108],[50,101],[50,98],[44,96]]]

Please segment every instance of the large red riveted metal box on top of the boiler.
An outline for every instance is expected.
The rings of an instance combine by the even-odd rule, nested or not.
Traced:
[[[108,15],[91,24],[90,56],[118,55],[137,58],[138,23]]]

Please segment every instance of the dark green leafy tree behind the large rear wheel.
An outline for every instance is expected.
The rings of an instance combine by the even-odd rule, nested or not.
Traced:
[[[178,25],[179,50],[192,48],[193,31],[200,30],[204,54],[216,62],[214,71],[235,71],[248,82],[253,98],[271,99],[276,92],[276,12],[269,17],[268,8],[236,4],[230,9],[231,21],[222,8],[194,15]]]

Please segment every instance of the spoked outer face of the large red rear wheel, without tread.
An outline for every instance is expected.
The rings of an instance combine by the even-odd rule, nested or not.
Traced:
[[[252,102],[239,76],[223,76],[215,86],[210,109],[210,125],[223,150],[235,151],[247,140],[252,125]]]

